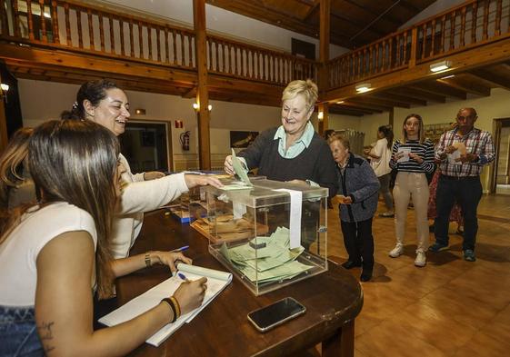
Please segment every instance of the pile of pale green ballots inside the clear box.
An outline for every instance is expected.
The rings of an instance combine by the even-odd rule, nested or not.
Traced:
[[[288,228],[278,227],[271,236],[256,237],[252,241],[256,245],[263,243],[263,248],[255,249],[254,244],[250,243],[227,248],[224,243],[220,252],[252,282],[268,283],[292,279],[313,266],[297,262],[297,257],[305,248],[300,246],[290,249],[289,237]]]

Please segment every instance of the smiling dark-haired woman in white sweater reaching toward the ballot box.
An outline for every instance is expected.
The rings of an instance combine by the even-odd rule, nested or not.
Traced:
[[[61,114],[62,119],[90,120],[101,124],[115,136],[124,133],[129,116],[129,102],[125,92],[108,80],[82,84],[71,111]],[[219,180],[207,175],[165,176],[159,172],[133,174],[123,154],[119,154],[119,162],[125,167],[122,178],[126,184],[122,199],[118,203],[112,233],[111,249],[115,259],[129,255],[129,250],[142,229],[144,212],[153,211],[174,201],[196,185],[222,186]],[[159,260],[159,257],[153,256],[151,252],[148,254],[145,258],[148,262]]]

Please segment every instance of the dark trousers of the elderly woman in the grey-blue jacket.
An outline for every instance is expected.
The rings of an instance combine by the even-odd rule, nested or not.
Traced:
[[[374,268],[374,236],[372,235],[372,218],[361,222],[340,221],[344,244],[349,260],[363,263],[363,269]]]

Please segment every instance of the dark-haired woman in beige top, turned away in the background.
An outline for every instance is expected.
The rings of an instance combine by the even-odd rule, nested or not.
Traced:
[[[388,125],[379,126],[377,129],[377,142],[371,149],[365,149],[365,155],[370,157],[370,165],[381,183],[379,193],[383,195],[386,211],[379,217],[393,217],[393,196],[390,192],[391,181],[391,149],[393,145],[393,131]]]

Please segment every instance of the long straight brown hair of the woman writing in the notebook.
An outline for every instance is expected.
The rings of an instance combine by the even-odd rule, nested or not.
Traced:
[[[115,134],[91,121],[54,120],[39,125],[29,141],[28,162],[41,190],[39,208],[66,202],[95,221],[95,272],[100,297],[111,295],[113,273],[108,242],[115,210],[115,173],[119,153]],[[20,223],[27,208],[3,225],[0,243]]]

